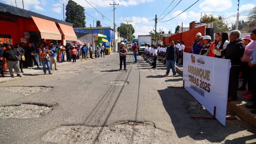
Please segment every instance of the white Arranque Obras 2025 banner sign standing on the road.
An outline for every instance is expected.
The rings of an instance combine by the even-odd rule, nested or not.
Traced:
[[[183,53],[183,80],[187,91],[216,119],[226,124],[230,60]]]

